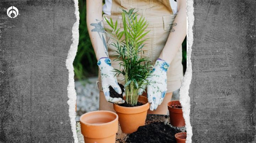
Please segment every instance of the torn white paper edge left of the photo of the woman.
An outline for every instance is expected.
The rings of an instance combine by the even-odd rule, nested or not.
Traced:
[[[68,52],[68,57],[66,59],[66,68],[68,69],[68,105],[69,105],[69,118],[70,118],[70,125],[71,130],[73,132],[74,142],[78,143],[78,137],[76,134],[76,91],[75,91],[75,80],[74,80],[74,67],[73,62],[76,56],[76,52],[78,50],[78,41],[79,41],[79,11],[78,11],[78,0],[74,0],[75,2],[75,17],[76,22],[74,23],[72,27],[72,44],[70,45],[70,49]]]

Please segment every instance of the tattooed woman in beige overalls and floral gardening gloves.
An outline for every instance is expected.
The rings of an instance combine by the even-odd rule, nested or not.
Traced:
[[[122,9],[134,11],[140,16],[145,17],[149,26],[146,35],[149,38],[143,47],[144,55],[151,58],[153,62],[165,64],[169,69],[165,72],[155,65],[155,75],[160,78],[151,77],[152,82],[148,85],[147,93],[150,105],[148,114],[167,114],[167,103],[171,100],[172,92],[180,88],[183,79],[182,67],[182,48],[181,44],[186,36],[186,1],[185,0],[106,0],[103,5],[101,0],[87,0],[87,26],[91,38],[92,46],[98,59],[100,89],[100,110],[113,111],[111,103],[122,104],[121,98],[111,98],[109,96],[109,86],[111,85],[116,92],[121,93],[121,88],[117,81],[124,84],[123,77],[114,76],[113,68],[119,68],[117,62],[113,62],[114,48],[111,47],[111,38],[106,38],[104,27],[108,28],[103,17],[112,18],[118,21],[118,27],[122,28],[121,13]],[[112,61],[112,62],[111,62]],[[164,82],[161,82],[164,81]],[[159,82],[161,84],[159,84]],[[155,90],[158,84],[160,90]],[[154,94],[153,94],[154,93]],[[105,99],[106,100],[105,100]],[[107,102],[108,101],[108,102]],[[154,102],[153,102],[154,101]],[[111,103],[109,103],[111,102]],[[162,104],[161,104],[162,103]]]

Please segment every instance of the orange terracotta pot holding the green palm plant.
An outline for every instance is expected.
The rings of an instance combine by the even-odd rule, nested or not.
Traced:
[[[114,110],[118,114],[119,124],[123,133],[133,133],[138,130],[139,126],[145,125],[146,115],[149,109],[148,99],[144,96],[139,96],[138,101],[144,105],[137,107],[122,107],[113,104]]]

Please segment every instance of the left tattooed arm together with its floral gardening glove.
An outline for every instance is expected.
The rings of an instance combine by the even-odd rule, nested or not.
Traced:
[[[101,85],[105,98],[108,102],[122,104],[122,98],[110,97],[110,89],[112,86],[118,94],[122,94],[122,90],[117,84],[116,75],[111,67],[108,57],[106,34],[102,22],[102,0],[86,0],[86,23],[88,32],[94,48],[94,52],[98,59],[97,65],[101,73]],[[102,59],[100,59],[102,58]]]

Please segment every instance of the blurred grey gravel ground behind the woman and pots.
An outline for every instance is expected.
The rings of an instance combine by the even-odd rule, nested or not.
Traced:
[[[99,90],[96,86],[98,77],[91,77],[83,81],[75,81],[76,90],[76,121],[82,114],[96,111],[99,108]],[[174,91],[171,100],[179,99],[179,90]]]

